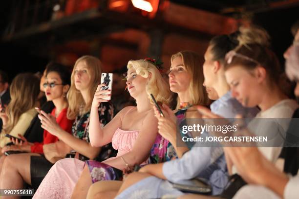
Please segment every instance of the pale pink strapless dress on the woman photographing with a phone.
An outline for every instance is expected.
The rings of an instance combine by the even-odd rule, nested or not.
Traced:
[[[124,131],[120,128],[115,131],[112,137],[112,146],[114,149],[118,150],[116,157],[122,156],[132,150],[138,134],[139,131]],[[101,166],[101,164],[104,167],[109,167],[107,164],[101,162],[90,161],[88,163],[89,170],[91,168],[90,165],[92,168],[95,168]],[[73,158],[57,161],[43,179],[38,190],[35,192],[33,199],[69,199],[82,173],[84,165],[84,161]],[[102,179],[107,180],[117,178],[115,178],[113,174],[107,174],[107,176]]]

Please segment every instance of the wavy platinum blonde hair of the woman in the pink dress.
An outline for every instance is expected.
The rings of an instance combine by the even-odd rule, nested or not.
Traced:
[[[151,104],[154,104],[154,102],[151,100],[150,94],[154,96],[157,102],[169,104],[171,100],[169,85],[155,65],[147,60],[129,60],[127,68],[134,68],[138,75],[143,78],[149,78],[146,92]]]

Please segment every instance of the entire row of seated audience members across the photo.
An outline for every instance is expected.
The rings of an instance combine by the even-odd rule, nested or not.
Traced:
[[[173,54],[167,75],[160,60],[129,60],[108,90],[92,56],[71,73],[51,62],[40,79],[23,73],[10,85],[1,71],[0,189],[32,187],[34,199],[297,198],[299,124],[280,120],[299,117],[299,21],[292,33],[285,72],[257,26],[214,37],[204,57]],[[244,134],[279,126],[273,141],[282,129],[295,144],[177,144],[193,137],[177,121],[240,116],[256,119],[258,131]]]

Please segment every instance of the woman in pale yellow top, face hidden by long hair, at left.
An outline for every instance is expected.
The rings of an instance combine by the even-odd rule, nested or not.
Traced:
[[[5,112],[0,113],[0,118],[3,121],[0,148],[11,142],[9,138],[5,137],[5,134],[15,137],[24,135],[31,120],[37,114],[34,107],[37,106],[40,93],[39,84],[39,79],[31,73],[19,74],[12,81],[10,85],[11,101],[5,108]],[[3,107],[1,107],[2,109]]]

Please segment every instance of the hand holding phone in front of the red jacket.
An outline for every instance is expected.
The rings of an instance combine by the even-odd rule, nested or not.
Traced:
[[[46,114],[44,111],[41,111],[38,117],[41,120],[42,128],[48,131],[53,136],[59,136],[59,132],[62,130],[61,127],[56,122],[56,119],[51,114]]]

